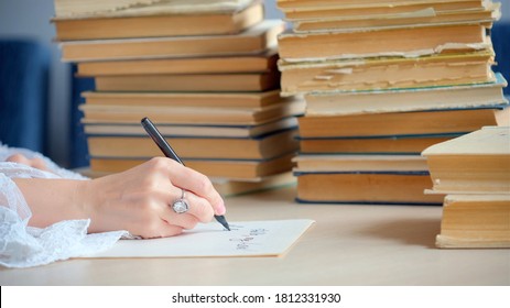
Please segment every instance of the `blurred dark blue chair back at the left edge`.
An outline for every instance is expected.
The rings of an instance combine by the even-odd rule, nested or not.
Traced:
[[[30,40],[0,38],[0,141],[45,148],[50,51]]]

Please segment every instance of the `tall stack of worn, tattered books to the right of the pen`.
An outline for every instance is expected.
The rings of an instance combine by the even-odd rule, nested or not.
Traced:
[[[420,153],[509,122],[486,0],[278,0],[285,96],[304,95],[297,200],[442,204]]]

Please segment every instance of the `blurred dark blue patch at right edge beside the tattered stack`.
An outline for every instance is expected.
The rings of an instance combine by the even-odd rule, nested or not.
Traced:
[[[496,22],[490,36],[498,63],[493,70],[500,72],[510,81],[510,22]],[[504,89],[504,95],[510,96],[510,87]]]

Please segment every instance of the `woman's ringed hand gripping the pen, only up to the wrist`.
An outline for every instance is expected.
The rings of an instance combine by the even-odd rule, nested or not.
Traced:
[[[82,199],[90,213],[90,232],[123,229],[143,238],[172,237],[225,213],[224,201],[206,176],[165,157],[86,186]],[[182,197],[182,189],[189,210],[176,213],[171,205]]]

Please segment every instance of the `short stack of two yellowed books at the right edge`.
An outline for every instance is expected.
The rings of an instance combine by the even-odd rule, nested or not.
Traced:
[[[486,127],[422,155],[428,193],[446,195],[436,245],[510,248],[510,127]]]

